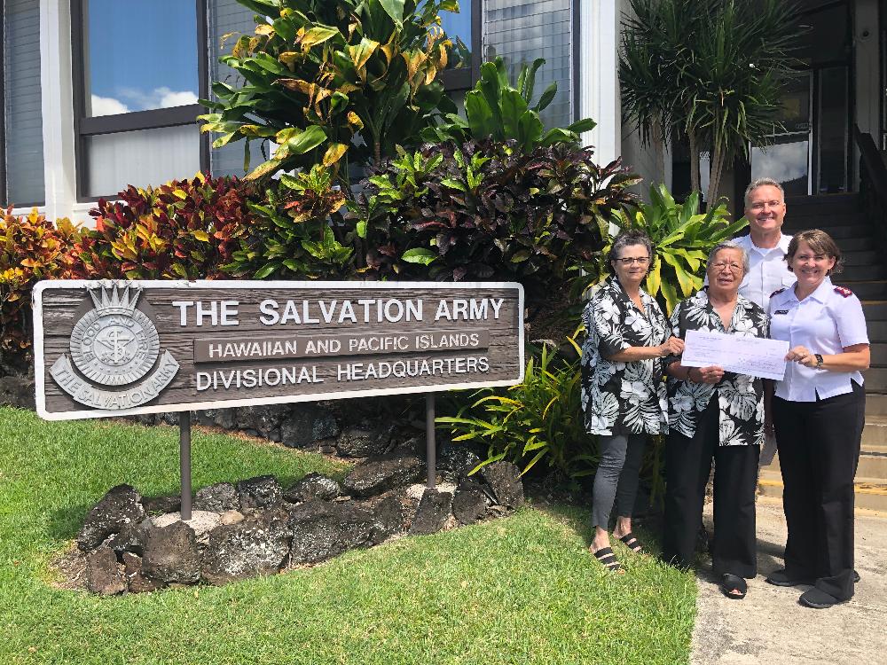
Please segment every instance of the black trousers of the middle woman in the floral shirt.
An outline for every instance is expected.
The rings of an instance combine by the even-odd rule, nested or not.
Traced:
[[[705,485],[715,462],[715,537],[712,567],[718,575],[757,575],[755,539],[756,445],[718,443],[718,394],[700,415],[696,432],[678,432],[665,443],[665,533],[663,559],[679,567],[694,560],[696,534],[703,519]]]

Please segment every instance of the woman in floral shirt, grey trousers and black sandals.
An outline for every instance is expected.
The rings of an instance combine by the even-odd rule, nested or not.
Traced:
[[[644,233],[620,233],[609,252],[613,273],[583,314],[582,406],[588,432],[600,441],[589,549],[612,571],[621,569],[608,537],[614,501],[613,535],[632,552],[641,550],[632,534],[640,460],[647,435],[663,433],[667,426],[663,358],[684,348],[671,337],[655,299],[640,288],[652,261],[653,246]]]

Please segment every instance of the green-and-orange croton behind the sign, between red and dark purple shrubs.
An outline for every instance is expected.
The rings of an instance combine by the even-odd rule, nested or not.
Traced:
[[[349,227],[336,215],[344,201],[328,168],[280,176],[265,200],[248,204],[254,221],[223,270],[254,279],[352,277],[354,248],[341,242]]]

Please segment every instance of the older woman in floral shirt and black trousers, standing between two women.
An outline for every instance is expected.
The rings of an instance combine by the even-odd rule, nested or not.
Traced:
[[[671,332],[681,339],[688,330],[766,337],[764,309],[739,294],[749,271],[742,246],[720,243],[711,250],[707,266],[709,286],[678,304],[671,313]],[[762,379],[670,360],[663,558],[679,567],[693,563],[713,459],[712,565],[721,578],[721,591],[742,599],[748,588],[744,578],[757,575],[755,488],[764,440]]]

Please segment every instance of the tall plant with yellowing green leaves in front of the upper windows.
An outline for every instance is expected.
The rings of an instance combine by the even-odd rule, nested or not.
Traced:
[[[255,34],[221,60],[246,84],[214,83],[200,119],[222,135],[216,147],[278,145],[247,178],[342,158],[347,174],[348,161],[378,162],[455,110],[437,79],[452,46],[438,13],[458,12],[456,0],[238,2],[256,12]]]

